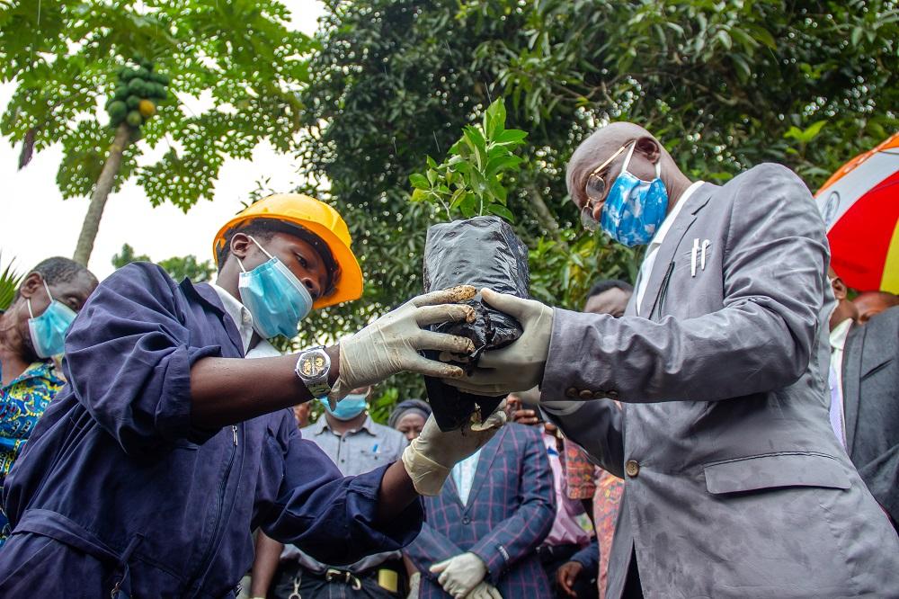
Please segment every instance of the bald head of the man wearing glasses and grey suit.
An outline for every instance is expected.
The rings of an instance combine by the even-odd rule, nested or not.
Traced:
[[[583,189],[593,169],[608,160],[620,148],[633,142],[636,142],[636,148],[634,148],[634,156],[628,165],[628,171],[649,181],[655,176],[655,163],[661,161],[662,179],[665,186],[668,187],[670,196],[672,191],[677,191],[681,183],[686,182],[689,186],[690,181],[681,174],[681,170],[674,164],[671,155],[652,133],[632,122],[613,122],[595,130],[590,137],[584,139],[581,145],[574,150],[571,160],[568,161],[565,183],[572,201],[579,208],[583,207],[587,201]],[[603,169],[602,174],[606,174],[603,178],[608,185],[620,173],[626,154],[622,152]]]

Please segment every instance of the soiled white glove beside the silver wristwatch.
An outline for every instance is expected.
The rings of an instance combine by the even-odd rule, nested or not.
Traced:
[[[475,288],[471,285],[432,291],[410,299],[355,335],[342,339],[340,374],[328,396],[332,407],[352,389],[368,387],[397,372],[418,372],[450,380],[462,376],[463,371],[458,366],[428,360],[418,352],[474,352],[470,339],[422,328],[457,320],[474,322],[475,308],[457,304],[473,297]]]

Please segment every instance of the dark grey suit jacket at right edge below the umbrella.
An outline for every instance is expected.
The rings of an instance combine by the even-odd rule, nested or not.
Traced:
[[[895,526],[899,523],[899,308],[852,327],[842,370],[846,447]]]

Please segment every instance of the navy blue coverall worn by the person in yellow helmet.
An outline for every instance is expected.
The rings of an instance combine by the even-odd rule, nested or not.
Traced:
[[[417,534],[419,502],[396,523],[374,524],[386,467],[343,478],[301,439],[289,410],[223,429],[191,425],[191,364],[243,357],[209,285],[130,264],[93,293],[66,353],[70,384],[6,478],[10,542],[45,535],[99,559],[98,568],[130,550],[132,596],[221,597],[253,560],[256,526],[335,564],[397,550]],[[17,566],[0,551],[0,571]],[[54,580],[53,563],[34,568]]]

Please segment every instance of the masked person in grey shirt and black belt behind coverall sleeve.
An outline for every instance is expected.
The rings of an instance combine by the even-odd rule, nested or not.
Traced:
[[[408,444],[403,434],[376,424],[369,416],[371,388],[352,389],[337,407],[321,402],[315,424],[302,430],[344,476],[378,469],[400,459]],[[366,556],[350,566],[323,564],[293,545],[283,545],[259,533],[250,595],[270,599],[292,596],[399,597],[405,588],[405,568],[399,551]]]

